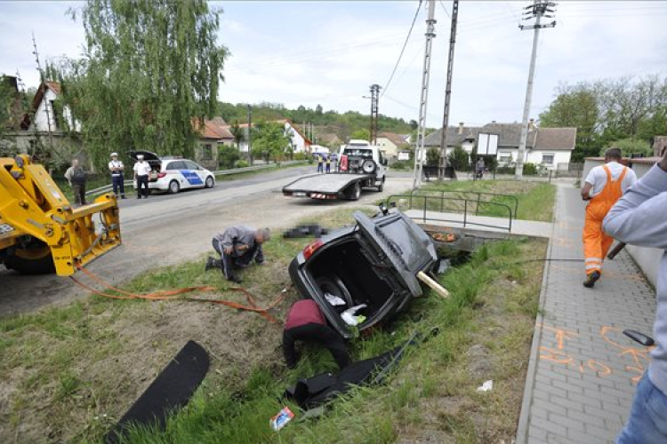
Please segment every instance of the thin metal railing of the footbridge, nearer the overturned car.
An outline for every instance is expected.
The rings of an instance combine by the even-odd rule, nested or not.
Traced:
[[[505,196],[507,194],[496,194],[496,195],[502,195]],[[499,228],[502,230],[508,230],[511,232],[512,230],[512,219],[515,217],[513,216],[512,209],[510,205],[507,205],[505,203],[501,202],[482,202],[478,201],[475,199],[466,199],[464,197],[446,197],[443,194],[441,195],[428,195],[428,194],[392,194],[387,198],[386,204],[389,207],[391,205],[391,202],[395,202],[398,206],[400,205],[400,202],[396,202],[396,199],[405,199],[406,202],[409,202],[408,204],[408,210],[413,210],[414,209],[414,201],[422,202],[422,205],[419,205],[421,208],[416,208],[416,210],[423,210],[422,212],[422,222],[425,224],[427,221],[433,221],[433,222],[448,222],[448,223],[455,223],[455,224],[462,224],[464,227],[465,226],[486,226],[487,228]],[[430,202],[435,202],[435,205],[429,205]],[[445,209],[445,202],[462,202],[462,208],[447,208]],[[439,203],[439,204],[438,204]],[[472,207],[475,207],[475,216],[478,216],[479,213],[479,206],[480,205],[490,205],[494,206],[496,208],[500,208],[502,210],[507,210],[507,221],[508,224],[507,226],[500,226],[500,225],[491,225],[491,224],[486,224],[483,223],[482,221],[479,220],[470,220],[469,216],[472,216],[471,211]],[[462,212],[463,215],[463,220],[456,220],[456,219],[449,219],[449,218],[438,218],[438,217],[433,217],[432,215],[429,215],[428,211],[436,211],[438,210],[439,207],[439,214],[446,214],[447,212]],[[516,210],[515,210],[516,211]],[[470,212],[470,214],[469,214]]]

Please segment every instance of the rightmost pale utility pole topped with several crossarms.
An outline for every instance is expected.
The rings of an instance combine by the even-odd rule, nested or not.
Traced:
[[[534,25],[524,26],[519,25],[522,31],[525,29],[534,29],[533,34],[533,53],[530,57],[530,69],[528,71],[528,84],[526,85],[526,103],[524,105],[524,117],[521,121],[521,139],[518,143],[518,157],[517,157],[517,169],[514,172],[514,178],[516,180],[521,180],[524,174],[524,160],[526,157],[526,139],[528,138],[528,115],[530,115],[530,102],[533,99],[533,78],[535,74],[535,59],[537,58],[537,41],[540,36],[541,28],[553,28],[556,26],[556,20],[553,20],[549,24],[542,25],[540,20],[542,17],[553,18],[553,9],[556,6],[555,3],[548,0],[534,0],[534,4],[526,6],[524,8],[524,18],[523,20],[533,20],[535,19]]]

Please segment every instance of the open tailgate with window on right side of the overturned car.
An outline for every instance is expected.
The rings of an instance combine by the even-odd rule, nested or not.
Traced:
[[[428,234],[403,213],[369,218],[354,213],[359,230],[384,252],[414,297],[422,295],[416,274],[436,263],[438,254]]]

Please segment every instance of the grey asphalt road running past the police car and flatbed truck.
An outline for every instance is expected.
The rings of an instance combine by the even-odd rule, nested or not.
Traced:
[[[121,200],[123,245],[88,268],[108,281],[123,284],[151,268],[212,252],[213,234],[226,226],[244,224],[280,230],[306,216],[337,206],[372,203],[380,196],[400,194],[412,185],[409,174],[390,172],[382,194],[366,190],[358,202],[293,199],[280,192],[283,186],[314,170],[312,166],[296,167],[221,181],[212,189]],[[3,266],[0,282],[0,314],[26,313],[87,296],[68,278],[23,276]]]

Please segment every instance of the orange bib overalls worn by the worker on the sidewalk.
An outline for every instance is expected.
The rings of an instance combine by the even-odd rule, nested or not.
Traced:
[[[612,180],[611,170],[603,165],[607,172],[607,185],[599,194],[593,196],[586,207],[586,222],[583,226],[583,255],[586,258],[586,274],[602,272],[602,261],[614,243],[614,238],[602,231],[602,220],[607,216],[616,201],[623,195],[621,184],[628,167],[623,168],[621,176]]]

